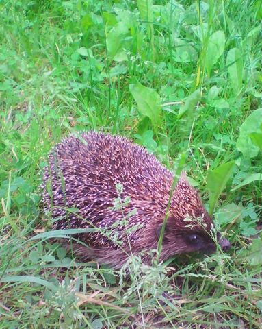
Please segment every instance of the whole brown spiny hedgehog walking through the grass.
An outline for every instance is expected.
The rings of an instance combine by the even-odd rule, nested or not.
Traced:
[[[215,232],[185,173],[173,182],[173,173],[144,147],[123,136],[83,132],[49,153],[42,201],[53,230],[90,229],[64,243],[81,260],[118,268],[130,255],[142,255],[148,263],[160,235],[161,261],[215,252],[218,245],[227,251],[230,243]]]

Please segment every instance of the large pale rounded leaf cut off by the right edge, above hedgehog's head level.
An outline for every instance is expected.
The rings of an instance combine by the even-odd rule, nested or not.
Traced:
[[[247,158],[254,158],[259,153],[259,147],[250,138],[253,132],[261,133],[262,108],[253,111],[242,123],[237,138],[237,149]],[[254,138],[254,137],[253,137]]]

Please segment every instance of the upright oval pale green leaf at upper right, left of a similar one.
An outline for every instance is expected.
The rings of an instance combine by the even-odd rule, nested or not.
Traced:
[[[210,75],[211,69],[213,69],[215,63],[218,62],[218,58],[224,52],[224,45],[225,36],[223,31],[217,31],[209,37],[205,60],[208,75]]]

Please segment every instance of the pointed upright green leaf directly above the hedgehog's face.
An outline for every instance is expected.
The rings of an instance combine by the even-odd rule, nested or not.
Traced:
[[[207,189],[209,190],[209,213],[213,215],[218,197],[226,186],[226,182],[231,176],[235,161],[221,164],[218,168],[209,171],[207,175]]]

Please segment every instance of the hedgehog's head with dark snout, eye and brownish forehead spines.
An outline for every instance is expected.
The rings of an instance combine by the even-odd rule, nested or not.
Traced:
[[[222,239],[219,232],[216,239],[213,236],[213,221],[197,191],[184,177],[176,185],[169,212],[163,236],[162,259],[191,252],[211,254],[216,250],[215,240],[224,251],[230,247],[230,243]],[[158,228],[159,232],[161,230]]]

